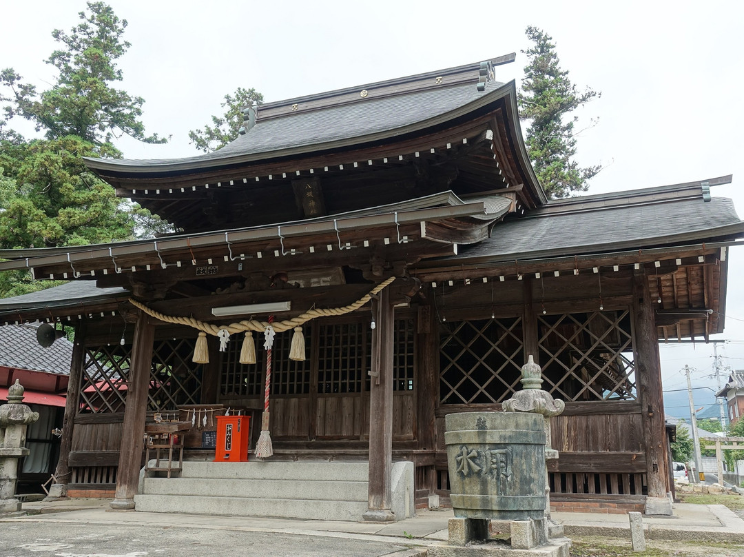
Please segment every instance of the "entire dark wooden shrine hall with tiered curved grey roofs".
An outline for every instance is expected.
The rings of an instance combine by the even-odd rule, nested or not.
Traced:
[[[0,322],[76,328],[57,483],[132,508],[147,424],[190,421],[205,460],[231,409],[251,459],[270,433],[263,465],[368,462],[368,517],[390,520],[392,463],[417,507],[446,503],[444,416],[501,410],[531,354],[565,401],[554,507],[665,497],[658,342],[723,330],[731,176],[547,200],[494,78],[511,60],[249,107],[214,153],[86,159],[177,232],[0,252],[69,281],[0,300]]]

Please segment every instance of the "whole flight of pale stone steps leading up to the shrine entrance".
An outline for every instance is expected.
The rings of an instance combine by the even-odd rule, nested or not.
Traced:
[[[393,511],[414,515],[413,463],[393,465]],[[141,473],[141,512],[359,521],[368,510],[367,462],[184,462],[180,477]]]

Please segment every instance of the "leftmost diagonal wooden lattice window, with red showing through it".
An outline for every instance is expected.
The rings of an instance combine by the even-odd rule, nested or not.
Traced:
[[[80,378],[80,413],[124,412],[131,346],[86,348]]]

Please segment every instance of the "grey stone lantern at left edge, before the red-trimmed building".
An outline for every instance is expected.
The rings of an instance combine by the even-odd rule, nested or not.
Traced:
[[[23,391],[16,379],[7,389],[7,404],[0,406],[0,512],[21,510],[21,502],[15,497],[18,461],[28,455],[26,426],[39,419],[38,412],[21,404]]]

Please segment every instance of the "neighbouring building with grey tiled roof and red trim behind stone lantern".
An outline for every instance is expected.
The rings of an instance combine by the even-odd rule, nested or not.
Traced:
[[[7,388],[18,379],[25,388],[23,403],[39,413],[26,433],[31,453],[22,462],[18,493],[42,491],[54,472],[60,442],[52,430],[62,427],[72,358],[72,343],[64,337],[49,348],[39,346],[36,328],[38,323],[0,327],[0,404],[7,402]]]

